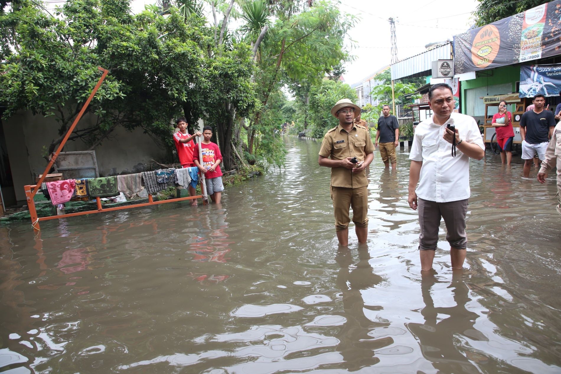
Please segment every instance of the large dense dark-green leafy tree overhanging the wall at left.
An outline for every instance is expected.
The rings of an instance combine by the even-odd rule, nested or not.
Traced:
[[[186,107],[196,120],[204,113],[249,111],[255,103],[249,47],[220,49],[219,58],[210,58],[213,31],[200,16],[185,19],[175,7],[162,17],[153,11],[132,15],[127,0],[69,0],[50,15],[23,0],[9,12],[2,8],[0,25],[1,45],[13,46],[1,50],[4,117],[26,109],[54,116],[61,136],[49,153],[97,82],[98,66],[109,70],[88,107],[98,122],[70,138],[90,149],[117,126],[140,127],[171,147],[170,120]]]

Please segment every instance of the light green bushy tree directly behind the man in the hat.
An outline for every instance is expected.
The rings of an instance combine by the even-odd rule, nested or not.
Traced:
[[[331,108],[341,99],[356,102],[356,91],[341,81],[322,80],[321,84],[310,90],[310,136],[323,138],[330,128],[337,126],[337,118],[331,115]]]

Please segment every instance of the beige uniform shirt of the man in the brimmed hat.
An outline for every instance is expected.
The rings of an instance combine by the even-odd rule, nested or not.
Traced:
[[[333,127],[323,137],[320,156],[341,160],[346,157],[356,157],[357,161],[364,161],[366,154],[374,152],[374,144],[365,126],[353,124],[350,133],[341,125]],[[366,172],[353,173],[345,167],[331,168],[331,185],[334,187],[358,188],[368,185]]]

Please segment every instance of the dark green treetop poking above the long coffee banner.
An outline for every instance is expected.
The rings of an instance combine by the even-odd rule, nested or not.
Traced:
[[[545,4],[549,1],[544,0],[478,0],[477,9],[473,12],[475,25],[477,27],[491,24],[495,21],[502,20],[526,11],[528,9]]]

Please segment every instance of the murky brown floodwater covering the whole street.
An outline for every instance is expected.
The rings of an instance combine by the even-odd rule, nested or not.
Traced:
[[[390,172],[376,151],[368,242],[339,249],[320,144],[286,142],[286,168],[222,206],[0,227],[0,371],[561,372],[553,177],[472,161],[465,270],[441,229],[421,277],[408,153]]]

